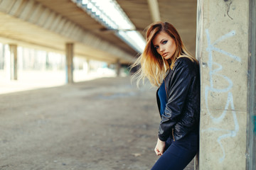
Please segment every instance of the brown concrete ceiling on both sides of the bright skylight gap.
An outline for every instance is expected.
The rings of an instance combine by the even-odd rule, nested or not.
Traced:
[[[103,0],[102,0],[103,1]],[[159,17],[172,23],[193,54],[196,49],[196,0],[117,0],[137,30]],[[159,15],[159,16],[158,16]],[[75,43],[75,55],[131,62],[137,52],[91,18],[72,0],[0,0],[0,41],[65,52]]]

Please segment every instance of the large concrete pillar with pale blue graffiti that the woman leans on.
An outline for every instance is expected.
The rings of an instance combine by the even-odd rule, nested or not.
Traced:
[[[250,8],[252,3],[254,8]],[[198,0],[201,170],[252,169],[255,164],[255,152],[249,147],[255,148],[253,140],[249,141],[255,137],[255,115],[250,113],[255,114],[255,100],[250,101],[255,98],[255,44],[250,42],[253,31],[255,41],[255,30],[249,29],[252,20],[255,22],[252,11],[255,0]]]

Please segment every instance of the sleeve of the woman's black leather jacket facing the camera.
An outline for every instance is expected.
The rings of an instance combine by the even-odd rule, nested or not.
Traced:
[[[189,65],[191,61],[186,61],[188,60],[176,61],[174,72],[170,78],[169,96],[159,126],[159,140],[161,141],[168,139],[171,129],[181,118],[183,106],[195,75]]]

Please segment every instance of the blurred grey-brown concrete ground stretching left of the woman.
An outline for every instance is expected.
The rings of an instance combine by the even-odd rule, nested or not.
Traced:
[[[150,169],[155,91],[122,77],[1,94],[0,169]]]

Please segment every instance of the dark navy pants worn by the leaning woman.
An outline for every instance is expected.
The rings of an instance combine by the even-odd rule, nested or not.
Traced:
[[[151,170],[182,170],[195,157],[199,148],[198,132],[192,131],[180,140],[166,141],[166,151]]]

